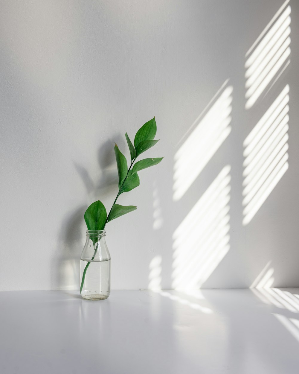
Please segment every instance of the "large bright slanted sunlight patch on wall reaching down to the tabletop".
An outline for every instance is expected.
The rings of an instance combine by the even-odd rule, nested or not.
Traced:
[[[229,172],[225,166],[173,233],[172,288],[197,289],[229,250]]]

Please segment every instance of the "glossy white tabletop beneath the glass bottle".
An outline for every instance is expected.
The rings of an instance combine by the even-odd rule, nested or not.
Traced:
[[[299,288],[0,292],[0,373],[299,373]]]

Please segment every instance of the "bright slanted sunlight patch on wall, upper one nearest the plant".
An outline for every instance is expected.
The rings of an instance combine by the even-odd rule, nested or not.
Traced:
[[[181,199],[231,132],[232,86],[222,85],[174,157],[173,200]]]

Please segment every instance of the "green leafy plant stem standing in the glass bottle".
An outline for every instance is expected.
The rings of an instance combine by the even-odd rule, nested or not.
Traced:
[[[131,191],[133,190],[133,188],[139,186],[139,176],[137,172],[142,169],[149,168],[149,166],[157,165],[163,159],[163,157],[149,158],[140,160],[135,163],[136,158],[141,153],[145,152],[158,142],[158,140],[154,140],[156,132],[157,125],[154,117],[137,131],[134,138],[134,145],[130,141],[128,134],[125,134],[131,156],[131,165],[129,169],[127,166],[126,157],[118,149],[117,144],[115,144],[114,152],[118,171],[118,193],[108,215],[104,204],[100,200],[95,201],[87,208],[84,214],[84,220],[86,222],[88,230],[104,230],[108,222],[137,209],[137,207],[134,205],[123,206],[116,204],[116,200],[118,199],[118,196],[120,196],[120,194],[122,194],[123,192]],[[97,249],[98,247],[96,246],[95,254],[93,255],[91,261],[95,258]],[[80,293],[83,288],[85,274],[89,267],[89,264],[90,261],[87,262],[83,271]]]

